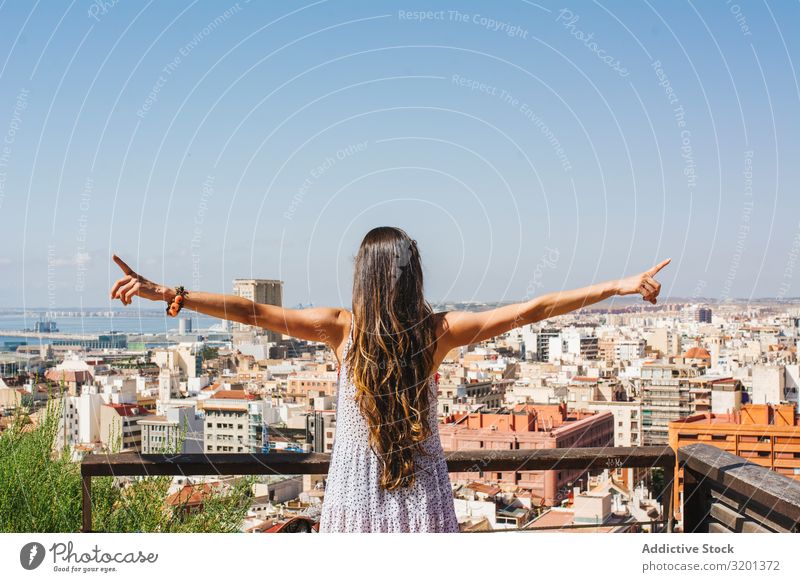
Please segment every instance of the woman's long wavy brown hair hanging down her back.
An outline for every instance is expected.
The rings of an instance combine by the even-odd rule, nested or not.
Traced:
[[[414,484],[415,452],[428,454],[436,349],[417,241],[399,228],[367,233],[355,258],[353,340],[345,358],[386,490]]]

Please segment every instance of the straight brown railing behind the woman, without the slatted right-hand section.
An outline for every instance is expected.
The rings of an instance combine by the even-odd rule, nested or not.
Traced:
[[[662,504],[667,531],[673,527],[672,482],[675,454],[666,446],[592,447],[572,449],[479,450],[448,452],[451,473],[479,471],[600,471],[622,467],[660,467],[664,470]],[[268,454],[93,454],[81,463],[83,478],[82,531],[92,531],[92,477],[148,475],[324,475],[330,455],[320,453]]]

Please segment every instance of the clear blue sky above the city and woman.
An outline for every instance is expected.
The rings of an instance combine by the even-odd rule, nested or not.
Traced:
[[[664,257],[664,294],[800,295],[792,22],[794,2],[3,2],[0,306],[109,305],[112,252],[349,305],[385,224],[432,301]]]

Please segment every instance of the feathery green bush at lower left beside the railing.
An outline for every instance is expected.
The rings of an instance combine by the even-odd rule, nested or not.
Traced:
[[[61,387],[60,395],[64,390]],[[71,449],[54,450],[63,407],[50,398],[42,420],[31,428],[20,409],[0,434],[0,532],[78,532],[81,475]],[[180,451],[183,434],[172,451]],[[112,446],[119,450],[119,440]],[[92,479],[92,528],[105,532],[237,532],[252,497],[253,477],[215,490],[201,511],[165,504],[172,477]]]

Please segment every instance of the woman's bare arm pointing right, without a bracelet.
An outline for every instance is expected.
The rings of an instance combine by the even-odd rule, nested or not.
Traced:
[[[655,304],[661,283],[653,277],[666,267],[666,259],[639,275],[616,281],[597,283],[580,289],[541,295],[530,301],[505,305],[479,312],[449,311],[443,314],[442,331],[438,341],[442,351],[478,343],[529,323],[549,319],[581,309],[614,295],[639,293],[642,299]]]

